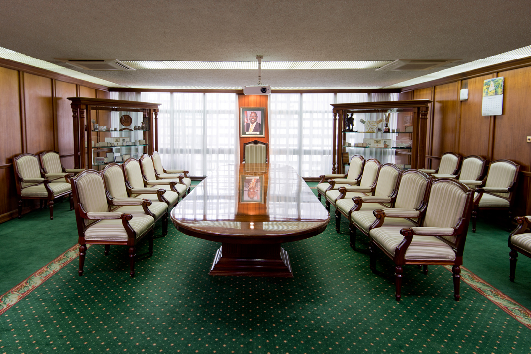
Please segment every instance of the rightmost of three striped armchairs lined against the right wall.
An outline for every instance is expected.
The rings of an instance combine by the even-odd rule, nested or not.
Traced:
[[[512,200],[519,171],[520,165],[509,160],[491,162],[485,186],[476,189],[472,232],[476,232],[476,220],[480,210],[507,210],[511,220]]]

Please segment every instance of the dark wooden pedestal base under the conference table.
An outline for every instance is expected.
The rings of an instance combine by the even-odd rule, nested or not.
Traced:
[[[293,278],[288,253],[280,244],[223,243],[216,252],[209,274]]]

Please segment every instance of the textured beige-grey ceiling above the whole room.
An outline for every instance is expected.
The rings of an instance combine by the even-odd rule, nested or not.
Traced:
[[[0,1],[0,47],[122,61],[394,61],[460,65],[531,44],[529,1]],[[442,67],[442,68],[446,68]],[[432,71],[263,70],[273,87],[387,87]],[[83,71],[120,85],[241,87],[254,70]]]

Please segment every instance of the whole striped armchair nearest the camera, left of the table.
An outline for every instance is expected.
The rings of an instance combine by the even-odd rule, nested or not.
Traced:
[[[100,172],[86,170],[70,180],[74,195],[75,217],[78,224],[79,271],[83,275],[83,264],[87,245],[105,245],[108,255],[110,245],[129,246],[129,266],[134,277],[136,245],[144,237],[149,238],[149,254],[153,255],[153,222],[149,212],[149,199],[121,198],[121,205],[138,205],[144,214],[109,212],[105,186]]]

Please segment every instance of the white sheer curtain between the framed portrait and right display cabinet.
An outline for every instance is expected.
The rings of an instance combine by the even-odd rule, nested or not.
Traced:
[[[269,97],[269,161],[303,177],[332,166],[333,93],[278,93]]]

